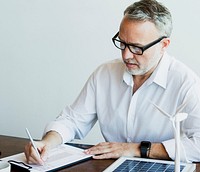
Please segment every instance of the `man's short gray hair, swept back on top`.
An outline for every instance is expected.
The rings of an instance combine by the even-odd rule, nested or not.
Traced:
[[[155,24],[161,36],[170,37],[172,32],[172,16],[167,7],[156,0],[140,0],[124,11],[130,20],[150,21]]]

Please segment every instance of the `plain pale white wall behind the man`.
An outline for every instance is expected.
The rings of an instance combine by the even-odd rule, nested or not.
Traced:
[[[120,57],[111,42],[123,0],[0,0],[0,134],[41,138],[91,72]],[[169,52],[200,74],[200,2],[162,0],[174,31]],[[98,126],[84,142],[97,143]]]

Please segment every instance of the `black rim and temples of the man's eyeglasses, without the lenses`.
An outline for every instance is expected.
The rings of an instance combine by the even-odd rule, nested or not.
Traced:
[[[147,45],[141,47],[141,46],[137,46],[137,45],[134,45],[134,44],[127,44],[127,43],[125,43],[125,42],[123,42],[123,41],[121,41],[121,40],[116,39],[118,35],[119,35],[119,32],[117,32],[117,33],[115,34],[115,36],[112,38],[112,41],[113,41],[114,45],[115,45],[118,49],[120,49],[120,50],[125,50],[126,47],[128,47],[128,49],[130,50],[130,52],[133,53],[133,54],[136,54],[136,55],[142,55],[142,54],[144,53],[145,50],[147,50],[148,48],[152,47],[153,45],[159,43],[162,39],[167,38],[167,36],[162,36],[162,37],[156,39],[155,41],[150,42],[149,44],[147,44]],[[117,41],[117,42],[119,42],[119,43],[123,43],[123,44],[124,44],[124,48],[120,48],[119,46],[117,46],[116,43],[115,43],[115,41]],[[130,48],[129,46],[134,46],[134,47],[136,47],[136,48],[139,48],[139,49],[141,50],[141,53],[132,52],[132,50],[131,50],[131,48]]]

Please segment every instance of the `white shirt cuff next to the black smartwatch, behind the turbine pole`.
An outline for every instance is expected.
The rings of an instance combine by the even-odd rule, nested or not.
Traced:
[[[176,154],[175,153],[175,139],[164,141],[164,142],[162,142],[162,144],[164,145],[165,150],[167,151],[169,157],[172,160],[175,160],[175,154]],[[180,160],[181,160],[181,162],[185,162],[185,163],[189,162],[187,160],[185,149],[181,142],[180,142]]]

